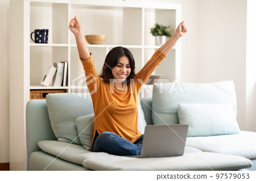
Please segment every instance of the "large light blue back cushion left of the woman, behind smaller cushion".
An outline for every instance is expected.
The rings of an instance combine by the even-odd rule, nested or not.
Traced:
[[[81,145],[75,119],[93,113],[92,99],[69,93],[48,94],[46,103],[53,133],[58,141]]]

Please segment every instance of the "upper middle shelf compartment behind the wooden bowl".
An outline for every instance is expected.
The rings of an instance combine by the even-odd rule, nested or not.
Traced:
[[[71,5],[71,18],[75,15],[79,19],[83,34],[106,35],[104,44],[142,44],[141,8]],[[71,44],[75,44],[75,37],[70,33]],[[85,37],[82,38],[85,40]]]

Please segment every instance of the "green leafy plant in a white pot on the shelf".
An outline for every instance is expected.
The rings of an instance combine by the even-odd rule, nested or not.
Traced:
[[[158,23],[155,23],[155,26],[150,28],[150,32],[156,37],[156,45],[164,44],[166,42],[166,37],[171,37],[173,35],[170,31],[170,27]]]

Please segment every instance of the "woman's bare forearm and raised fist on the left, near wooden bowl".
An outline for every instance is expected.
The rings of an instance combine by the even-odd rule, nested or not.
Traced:
[[[89,50],[86,47],[86,44],[84,42],[84,37],[82,35],[82,29],[81,29],[79,20],[77,20],[76,16],[75,16],[75,18],[70,20],[69,30],[71,30],[76,37],[77,50],[79,52],[79,56],[80,56],[81,60],[87,60],[90,57],[90,53],[89,53]]]

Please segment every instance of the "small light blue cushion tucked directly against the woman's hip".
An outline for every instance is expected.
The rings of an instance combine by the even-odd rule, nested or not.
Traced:
[[[82,147],[90,150],[93,141],[94,113],[77,117],[75,121]]]

